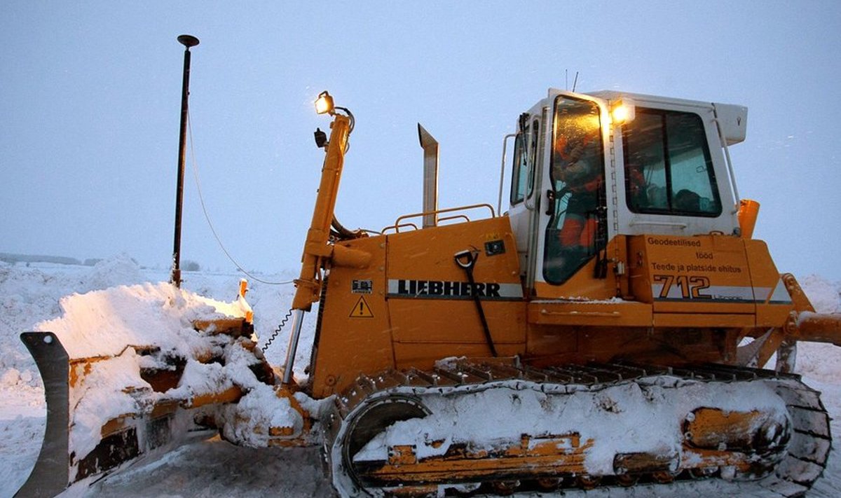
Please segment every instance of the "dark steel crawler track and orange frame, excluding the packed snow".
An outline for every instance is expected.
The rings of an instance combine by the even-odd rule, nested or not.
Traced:
[[[735,458],[728,459],[726,455],[719,458],[720,465],[712,468],[683,469],[683,466],[678,466],[680,458],[676,454],[640,456],[617,453],[611,475],[591,475],[580,468],[584,453],[590,449],[586,447],[586,442],[575,439],[575,435],[569,433],[535,434],[528,439],[523,436],[521,453],[517,453],[516,448],[509,448],[503,453],[485,454],[485,458],[477,458],[471,453],[457,460],[456,463],[462,465],[461,469],[469,469],[472,478],[445,482],[460,494],[509,495],[516,490],[546,491],[558,487],[590,490],[605,485],[645,487],[675,480],[679,481],[678,485],[691,487],[698,481],[708,483],[706,478],[720,476],[724,479],[716,479],[714,487],[723,486],[722,492],[752,496],[804,495],[822,475],[832,447],[829,416],[820,400],[820,393],[803,384],[798,375],[724,365],[669,368],[609,363],[533,368],[513,362],[457,361],[442,363],[431,370],[388,370],[373,376],[362,375],[336,398],[335,410],[325,431],[326,463],[340,495],[437,495],[439,489],[443,489],[439,488],[443,483],[436,475],[440,477],[442,474],[429,470],[434,470],[431,466],[421,469],[418,465],[421,458],[415,455],[415,447],[389,448],[389,463],[396,470],[388,474],[390,477],[372,478],[373,474],[368,474],[370,469],[365,465],[352,463],[353,456],[393,422],[428,416],[431,413],[426,407],[428,401],[442,397],[458,398],[492,389],[508,389],[519,394],[539,390],[547,396],[556,397],[575,393],[597,396],[611,388],[645,390],[656,386],[658,389],[678,389],[687,384],[738,386],[740,383],[759,383],[771,389],[780,398],[780,404],[785,405],[786,425],[791,424],[785,427],[785,437],[776,440],[777,446],[770,444],[765,453],[759,451],[751,455],[743,452],[748,453],[748,459],[754,462],[749,469],[741,462],[740,465],[733,464]],[[610,410],[610,407],[606,409]],[[526,447],[536,448],[547,443],[569,445],[564,450],[569,456],[563,460],[567,467],[555,462],[553,469],[542,469],[542,472],[532,474],[525,467],[516,467],[518,462],[526,462],[527,458],[532,458],[528,460],[531,467],[539,466],[542,460],[528,453]],[[467,450],[460,451],[468,455]],[[436,462],[434,458],[428,461],[445,467],[453,464],[452,461]],[[507,468],[505,462],[513,462],[515,466]],[[489,464],[487,473],[483,473],[484,464]],[[405,477],[401,477],[400,469],[406,469]],[[424,474],[427,470],[429,472]]]

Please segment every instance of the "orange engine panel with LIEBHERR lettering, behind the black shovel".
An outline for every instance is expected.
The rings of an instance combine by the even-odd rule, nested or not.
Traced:
[[[490,356],[458,252],[477,254],[476,292],[500,356],[522,352],[526,303],[516,242],[506,217],[389,236],[388,306],[399,368],[452,356]]]

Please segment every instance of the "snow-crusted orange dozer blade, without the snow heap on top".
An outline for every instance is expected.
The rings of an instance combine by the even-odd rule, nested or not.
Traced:
[[[47,426],[17,496],[55,496],[217,432],[254,448],[315,443],[307,411],[294,389],[275,383],[250,324],[223,318],[193,327],[182,337],[197,349],[127,344],[82,358],[53,332],[22,334],[44,380]]]

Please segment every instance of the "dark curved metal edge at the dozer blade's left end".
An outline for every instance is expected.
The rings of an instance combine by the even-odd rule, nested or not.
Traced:
[[[38,460],[15,496],[55,496],[70,484],[69,357],[52,332],[24,332],[20,340],[44,381],[47,425]]]

